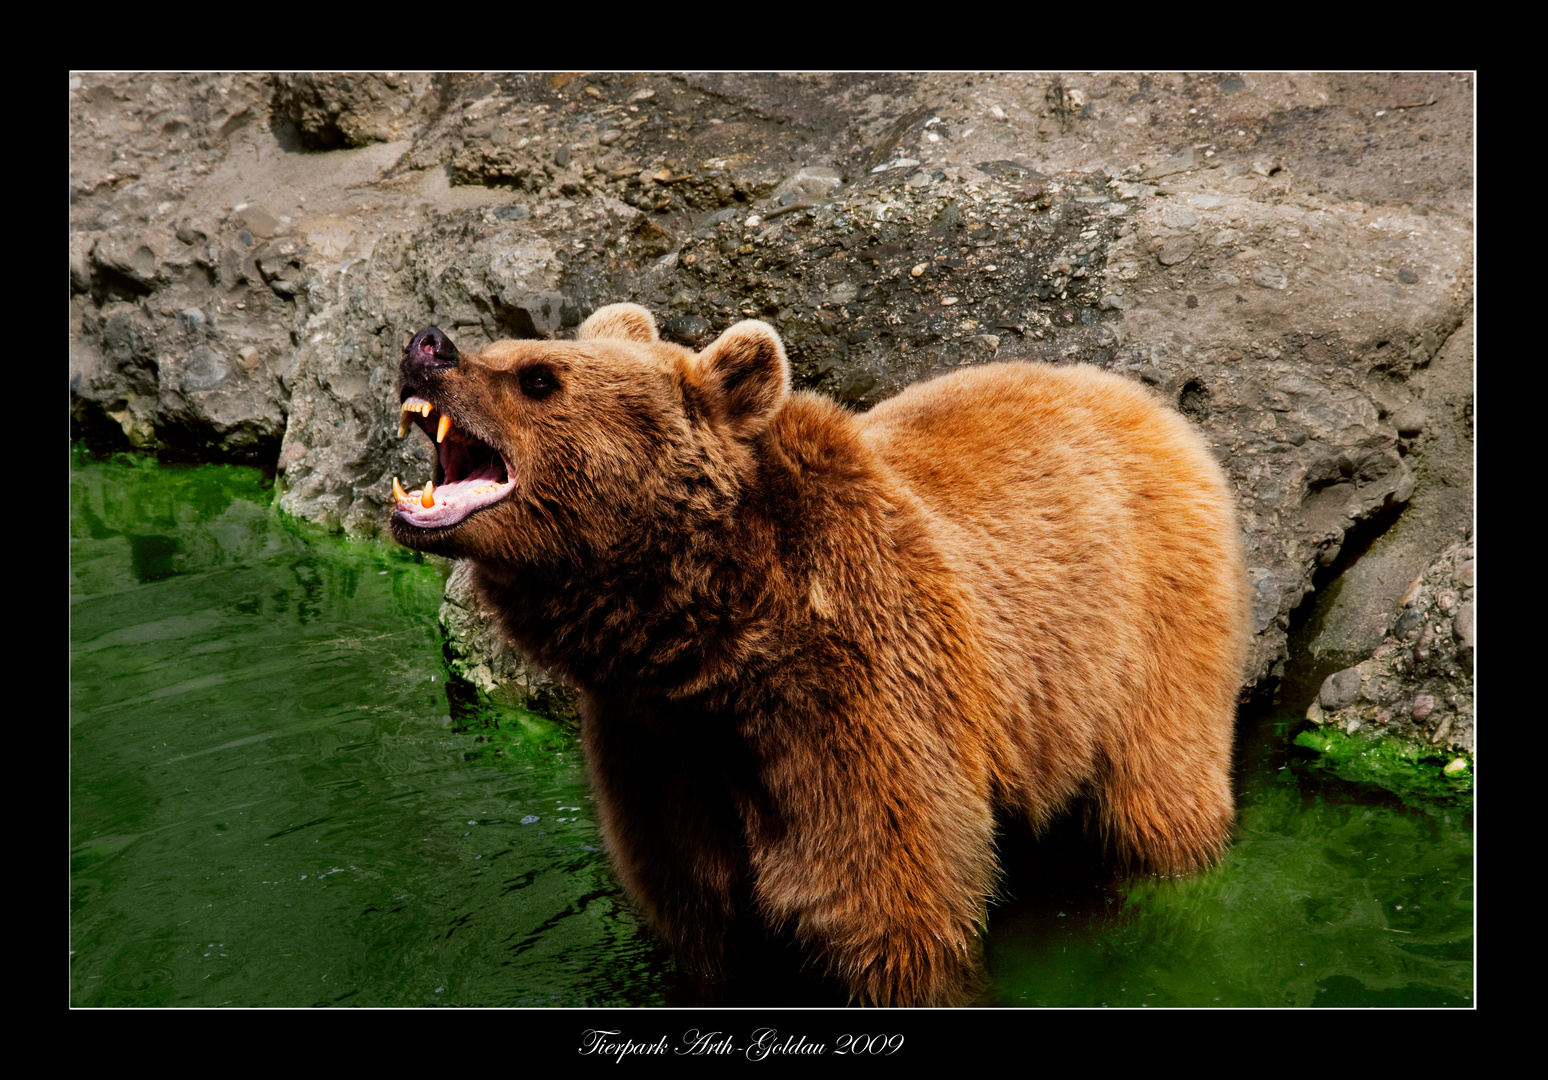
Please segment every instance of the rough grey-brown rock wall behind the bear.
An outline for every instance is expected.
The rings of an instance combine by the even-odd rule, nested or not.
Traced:
[[[393,387],[430,323],[760,317],[854,408],[1099,364],[1229,470],[1262,687],[1341,552],[1368,654],[1471,523],[1472,110],[1466,74],[73,74],[74,433],[272,463],[283,509],[376,534],[427,467]],[[461,670],[531,679],[458,582]]]

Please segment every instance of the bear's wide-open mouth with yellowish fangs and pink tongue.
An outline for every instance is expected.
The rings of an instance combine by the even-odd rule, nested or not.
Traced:
[[[398,438],[409,433],[410,424],[430,436],[435,463],[423,490],[406,492],[396,477],[392,480],[396,515],[409,525],[444,529],[515,490],[505,455],[469,435],[424,398],[410,396],[402,402]]]

